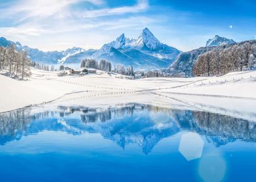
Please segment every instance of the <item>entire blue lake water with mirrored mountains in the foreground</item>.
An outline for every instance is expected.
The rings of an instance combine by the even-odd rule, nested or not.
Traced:
[[[255,181],[256,123],[129,103],[0,114],[0,181]]]

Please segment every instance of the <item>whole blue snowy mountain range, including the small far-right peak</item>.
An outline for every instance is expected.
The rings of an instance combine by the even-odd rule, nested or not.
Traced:
[[[6,38],[0,38],[0,46],[10,47],[15,44],[17,51],[25,50],[31,60],[42,64],[77,64],[83,59],[106,59],[112,64],[133,66],[135,69],[155,70],[167,68],[172,75],[192,76],[193,64],[206,51],[214,47],[235,44],[234,40],[221,36],[214,36],[206,42],[206,47],[200,47],[188,52],[181,52],[174,47],[161,43],[153,33],[145,28],[138,38],[127,38],[121,34],[116,40],[104,44],[101,49],[85,50],[81,47],[72,47],[65,51],[43,52],[12,42]]]

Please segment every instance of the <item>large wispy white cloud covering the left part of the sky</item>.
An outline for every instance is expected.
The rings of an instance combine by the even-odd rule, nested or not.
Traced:
[[[78,12],[72,11],[72,5],[86,1],[101,9],[86,11],[84,7],[79,8]],[[106,8],[106,5],[105,0],[12,1],[8,8],[0,8],[1,18],[12,19],[13,22],[12,26],[0,26],[1,36],[44,51],[72,46],[99,48],[120,32],[141,31],[153,21],[152,18],[136,14],[147,10],[148,0],[118,8]],[[120,14],[129,16],[115,16]],[[112,17],[106,19],[104,16]]]

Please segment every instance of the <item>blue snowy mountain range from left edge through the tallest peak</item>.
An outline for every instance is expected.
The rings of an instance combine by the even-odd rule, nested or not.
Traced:
[[[116,40],[104,44],[99,50],[85,50],[80,47],[72,47],[65,51],[43,52],[23,46],[20,42],[12,42],[6,38],[0,38],[0,46],[10,47],[15,44],[17,51],[25,50],[31,60],[43,64],[80,64],[82,59],[106,59],[112,64],[133,66],[136,69],[167,68],[180,51],[161,43],[153,33],[144,29],[138,38],[126,38],[121,34]]]

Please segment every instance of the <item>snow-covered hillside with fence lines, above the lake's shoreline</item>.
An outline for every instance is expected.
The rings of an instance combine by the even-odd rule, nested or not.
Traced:
[[[141,93],[148,93],[146,96],[151,96],[150,93],[176,93],[196,96],[256,98],[255,81],[256,72],[235,72],[222,77],[129,80],[118,79],[116,75],[108,75],[102,71],[84,76],[57,77],[57,72],[32,69],[32,76],[27,81],[17,81],[0,75],[1,86],[5,88],[0,90],[0,112],[52,101],[65,94],[77,92],[88,92],[91,96],[104,96],[106,99],[108,96],[114,97],[115,94],[120,94],[127,101],[131,101],[131,98],[125,97],[130,92],[137,93],[138,98],[141,98]],[[148,99],[150,100],[150,97]],[[89,103],[89,101],[87,102]],[[104,105],[102,100],[95,101],[93,99],[91,103]]]

